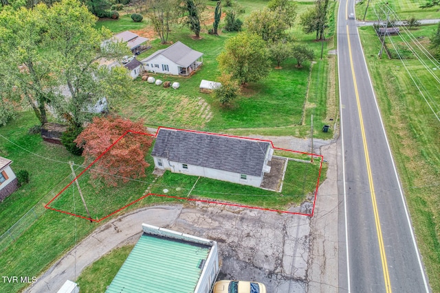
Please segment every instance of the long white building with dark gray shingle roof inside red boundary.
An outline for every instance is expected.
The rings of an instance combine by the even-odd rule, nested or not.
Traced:
[[[159,128],[155,168],[260,187],[274,150],[267,141]]]

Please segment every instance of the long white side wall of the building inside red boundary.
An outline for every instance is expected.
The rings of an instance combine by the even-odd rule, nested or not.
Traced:
[[[173,173],[181,173],[192,176],[203,176],[207,178],[212,178],[216,180],[223,180],[232,183],[238,183],[241,185],[250,185],[253,187],[260,187],[261,181],[263,180],[263,174],[259,176],[246,175],[246,180],[241,179],[241,174],[235,172],[224,171],[220,169],[212,169],[209,167],[201,167],[197,165],[190,165],[188,169],[183,168],[184,163],[178,163],[173,161],[168,161],[166,158],[158,158],[153,156],[155,167],[158,169],[166,169]],[[157,159],[162,159],[162,166],[159,166]]]

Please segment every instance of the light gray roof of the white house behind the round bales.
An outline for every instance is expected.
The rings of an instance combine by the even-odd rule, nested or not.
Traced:
[[[183,67],[190,66],[192,62],[195,62],[197,59],[203,56],[203,53],[195,51],[184,43],[177,41],[166,49],[155,51],[153,54],[143,59],[142,62],[148,62],[159,54],[162,54],[169,60],[175,62],[175,64]]]

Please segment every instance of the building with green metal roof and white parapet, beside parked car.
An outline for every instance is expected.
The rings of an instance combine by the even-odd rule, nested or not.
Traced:
[[[217,242],[148,224],[142,230],[106,293],[210,292],[219,272]]]

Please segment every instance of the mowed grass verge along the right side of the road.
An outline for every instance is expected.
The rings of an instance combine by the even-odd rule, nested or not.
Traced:
[[[377,59],[380,41],[372,28],[362,27],[360,33],[417,244],[432,291],[440,292],[440,122],[419,95],[401,62]],[[406,60],[406,65],[423,82],[425,95],[438,110],[439,84],[415,59]]]

